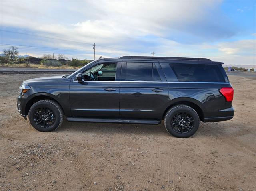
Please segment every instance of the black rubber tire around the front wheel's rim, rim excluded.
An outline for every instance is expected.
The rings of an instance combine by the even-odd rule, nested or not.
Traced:
[[[53,111],[54,116],[55,116],[55,122],[54,124],[50,127],[50,128],[43,128],[40,127],[36,124],[36,122],[34,121],[34,111],[38,108],[38,107],[46,107],[49,108]],[[51,104],[47,101],[39,101],[36,102],[34,105],[31,106],[29,112],[28,112],[28,119],[30,121],[30,124],[38,131],[42,131],[42,132],[50,132],[55,130],[56,128],[58,128],[59,124],[60,124],[60,112],[58,110],[58,108],[56,106],[54,106],[54,104]]]

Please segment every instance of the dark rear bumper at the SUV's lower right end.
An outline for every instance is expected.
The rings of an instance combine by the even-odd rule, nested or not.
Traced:
[[[227,121],[234,117],[234,112],[235,110],[231,106],[230,108],[219,110],[213,117],[204,118],[204,122]]]

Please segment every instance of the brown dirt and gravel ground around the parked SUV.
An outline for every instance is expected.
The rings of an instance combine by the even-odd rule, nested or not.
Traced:
[[[230,76],[232,120],[181,139],[163,124],[64,121],[38,132],[16,96],[25,79],[50,75],[0,75],[0,190],[256,190],[256,77]]]

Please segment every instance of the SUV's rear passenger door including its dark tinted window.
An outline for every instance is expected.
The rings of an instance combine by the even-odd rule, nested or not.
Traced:
[[[122,62],[120,118],[162,119],[168,84],[158,62]]]

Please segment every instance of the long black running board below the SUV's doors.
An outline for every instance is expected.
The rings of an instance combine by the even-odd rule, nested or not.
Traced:
[[[110,119],[110,118],[66,118],[68,121],[75,122],[95,122],[95,123],[129,123],[129,124],[151,124],[158,125],[161,120],[135,120],[135,119]]]

